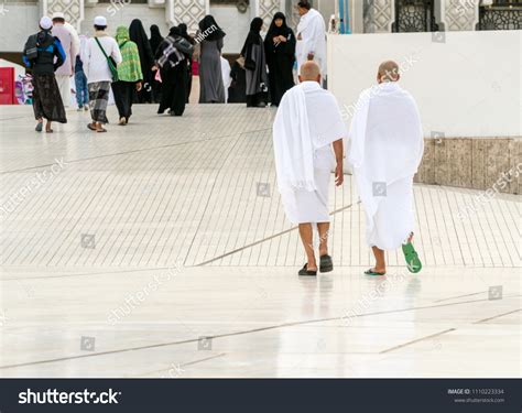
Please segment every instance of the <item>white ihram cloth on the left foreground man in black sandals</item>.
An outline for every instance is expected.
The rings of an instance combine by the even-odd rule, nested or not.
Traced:
[[[317,81],[286,91],[275,115],[273,144],[278,186],[293,224],[328,222],[331,142],[347,137],[335,97]]]

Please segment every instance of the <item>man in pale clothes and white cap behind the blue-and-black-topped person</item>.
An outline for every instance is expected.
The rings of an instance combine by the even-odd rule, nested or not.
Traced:
[[[70,29],[65,26],[65,15],[62,12],[53,14],[53,35],[59,39],[66,55],[65,63],[56,70],[55,75],[62,101],[64,106],[67,107],[70,105],[70,78],[74,76],[74,66],[76,55],[79,52],[79,43],[76,43]]]

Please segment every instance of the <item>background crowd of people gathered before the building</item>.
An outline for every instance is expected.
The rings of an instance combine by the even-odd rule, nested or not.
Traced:
[[[281,12],[275,13],[264,39],[263,20],[253,19],[232,66],[222,57],[226,33],[213,15],[199,22],[195,36],[183,23],[171,28],[166,36],[154,24],[148,36],[139,19],[109,32],[106,18],[97,17],[90,39],[78,35],[63,13],[43,17],[40,31],[28,39],[23,51],[33,78],[36,131],[43,130],[44,120],[46,132],[53,131],[53,121],[66,122],[64,106],[72,100],[72,77],[78,110],[90,110],[87,127],[96,132],[107,131],[104,126],[108,123],[111,91],[121,126],[129,123],[134,102],[159,104],[157,113],[182,116],[194,75],[199,76],[199,104],[279,106],[284,93],[294,86],[300,43],[305,45],[305,59],[324,61],[319,56],[325,42],[323,18],[307,1],[300,1],[297,9],[302,15],[297,36]],[[313,20],[317,15],[320,22]],[[319,43],[313,36],[318,36]]]

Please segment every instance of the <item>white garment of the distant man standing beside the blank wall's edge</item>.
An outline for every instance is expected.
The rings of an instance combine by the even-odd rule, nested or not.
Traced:
[[[323,77],[326,75],[326,26],[323,15],[315,9],[309,9],[301,17],[297,25],[295,57],[297,73],[301,65],[308,61],[308,53],[314,53],[314,61],[319,65]]]

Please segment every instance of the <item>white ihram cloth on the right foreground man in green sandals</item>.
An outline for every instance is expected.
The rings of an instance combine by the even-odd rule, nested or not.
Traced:
[[[421,117],[396,83],[365,90],[356,108],[349,162],[367,215],[367,240],[394,250],[414,227],[413,175],[424,152]]]

